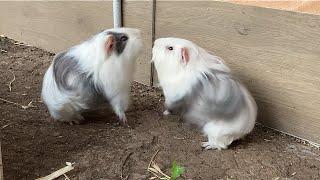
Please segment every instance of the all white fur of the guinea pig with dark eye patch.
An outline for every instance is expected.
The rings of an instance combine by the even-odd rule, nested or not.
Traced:
[[[112,53],[106,55],[105,42],[110,35],[106,32],[126,33],[129,36],[127,45],[119,56]],[[92,76],[93,83],[100,87],[103,95],[113,107],[120,120],[126,121],[125,110],[129,104],[130,85],[133,81],[135,59],[142,48],[140,31],[131,28],[105,30],[91,39],[70,48],[66,55],[76,57],[80,71]],[[74,79],[68,79],[69,84],[76,84]],[[42,88],[42,98],[48,106],[51,116],[61,121],[82,120],[80,111],[89,109],[80,101],[82,92],[61,91],[53,75],[53,64],[47,70]]]

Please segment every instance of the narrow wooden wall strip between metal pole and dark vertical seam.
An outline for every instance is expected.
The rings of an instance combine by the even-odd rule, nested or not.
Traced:
[[[141,29],[144,49],[137,60],[135,77],[143,84],[150,84],[152,48],[152,1],[124,1],[123,25]]]

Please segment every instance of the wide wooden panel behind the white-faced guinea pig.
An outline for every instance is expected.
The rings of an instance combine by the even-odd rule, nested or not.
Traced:
[[[225,2],[157,2],[156,37],[192,40],[226,60],[259,121],[320,143],[320,16]]]

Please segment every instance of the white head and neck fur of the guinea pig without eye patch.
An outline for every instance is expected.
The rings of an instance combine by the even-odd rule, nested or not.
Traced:
[[[174,46],[174,53],[169,52],[166,46]],[[180,58],[180,50],[183,47],[189,49],[191,61],[188,65],[182,64]],[[209,68],[230,72],[220,58],[206,53],[201,47],[185,39],[157,39],[152,52],[152,61],[155,64],[166,103],[176,101],[190,92],[191,87],[202,78],[201,74],[207,72]]]

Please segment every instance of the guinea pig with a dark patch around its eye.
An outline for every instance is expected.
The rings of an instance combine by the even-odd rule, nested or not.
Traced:
[[[78,124],[83,112],[109,103],[126,125],[135,60],[141,49],[140,30],[117,28],[58,53],[45,73],[41,94],[53,119]]]

